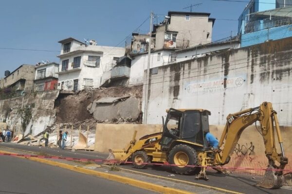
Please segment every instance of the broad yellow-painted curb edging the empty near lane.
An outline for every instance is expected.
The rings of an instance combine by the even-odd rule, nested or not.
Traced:
[[[7,151],[2,151],[2,150],[0,150],[0,152],[7,153],[7,154],[15,154],[13,152],[7,152]],[[23,157],[20,157],[20,158],[23,158]],[[61,168],[80,172],[80,173],[87,174],[87,175],[93,175],[96,177],[106,178],[106,179],[109,179],[112,181],[116,181],[116,182],[120,182],[120,183],[124,183],[124,184],[129,184],[129,185],[132,185],[135,187],[139,187],[142,189],[151,190],[151,191],[155,191],[155,192],[159,192],[159,193],[163,193],[163,194],[194,194],[194,193],[190,193],[190,192],[183,191],[183,190],[178,190],[178,189],[169,188],[169,187],[163,187],[160,185],[156,185],[156,184],[152,184],[152,183],[148,183],[148,182],[144,182],[144,181],[140,181],[140,180],[135,180],[133,178],[126,178],[126,177],[122,177],[119,175],[113,175],[113,174],[109,174],[109,173],[103,173],[103,172],[98,172],[98,171],[82,168],[82,167],[76,167],[76,166],[73,166],[70,164],[49,161],[49,160],[39,159],[39,158],[26,158],[26,159],[31,160],[31,161],[35,161],[35,162],[46,163],[46,164],[49,164],[52,166],[58,166]]]

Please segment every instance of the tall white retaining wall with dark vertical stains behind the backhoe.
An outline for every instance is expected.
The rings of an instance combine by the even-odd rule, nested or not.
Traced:
[[[291,55],[292,37],[159,66],[150,74],[146,124],[160,124],[172,107],[208,109],[211,125],[225,125],[229,113],[270,101],[280,125],[292,126]]]

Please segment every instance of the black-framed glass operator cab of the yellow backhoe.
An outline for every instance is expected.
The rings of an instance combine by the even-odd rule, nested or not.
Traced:
[[[174,141],[183,140],[203,147],[203,132],[209,132],[210,111],[203,109],[169,109],[160,145],[167,150]]]

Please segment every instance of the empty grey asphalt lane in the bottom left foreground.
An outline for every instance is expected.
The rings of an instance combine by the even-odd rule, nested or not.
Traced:
[[[154,194],[104,178],[1,156],[0,194]]]

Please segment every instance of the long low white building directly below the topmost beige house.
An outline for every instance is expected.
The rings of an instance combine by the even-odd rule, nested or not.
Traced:
[[[160,49],[153,50],[150,55],[151,74],[157,74],[158,67],[188,61],[213,53],[222,52],[226,49],[240,48],[240,42],[235,37],[232,40],[223,42],[214,42],[206,45],[198,45],[186,49],[169,50]],[[143,84],[144,71],[147,69],[148,54],[146,53],[129,53],[132,58],[129,85]]]

